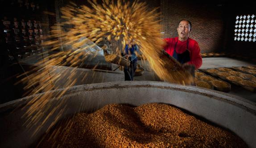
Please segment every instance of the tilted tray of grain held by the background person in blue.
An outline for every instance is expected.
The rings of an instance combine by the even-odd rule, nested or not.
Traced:
[[[117,54],[106,55],[105,60],[107,62],[111,62],[111,63],[121,65],[121,66],[129,66],[130,65],[130,61],[128,59],[123,58],[122,56],[117,55]]]

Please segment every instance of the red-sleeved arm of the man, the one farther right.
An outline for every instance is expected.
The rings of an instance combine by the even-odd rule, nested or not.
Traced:
[[[194,44],[190,54],[190,62],[187,63],[194,65],[196,69],[200,68],[202,66],[202,57],[200,55],[200,48],[198,43]]]

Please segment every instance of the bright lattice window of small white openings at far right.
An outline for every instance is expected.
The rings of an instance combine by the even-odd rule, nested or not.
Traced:
[[[256,16],[236,16],[234,35],[235,41],[256,42]]]

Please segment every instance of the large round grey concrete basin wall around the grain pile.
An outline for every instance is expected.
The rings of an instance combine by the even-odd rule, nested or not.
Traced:
[[[24,125],[27,119],[22,116],[26,109],[22,108],[34,97],[42,94],[50,96],[63,90],[36,94],[0,105],[0,147],[27,148],[35,144],[57,115],[50,116],[46,124],[30,136],[37,125],[31,129]],[[74,86],[61,99],[49,99],[53,106],[65,99],[65,112],[58,120],[77,112],[92,112],[112,103],[135,106],[152,102],[171,104],[231,130],[249,147],[256,147],[256,104],[228,93],[167,82],[133,81]]]

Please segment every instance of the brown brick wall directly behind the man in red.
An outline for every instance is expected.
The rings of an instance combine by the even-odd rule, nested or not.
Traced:
[[[195,39],[202,52],[222,51],[224,23],[222,7],[214,2],[192,0],[161,0],[165,38],[178,36],[181,19],[192,23],[190,38]]]

